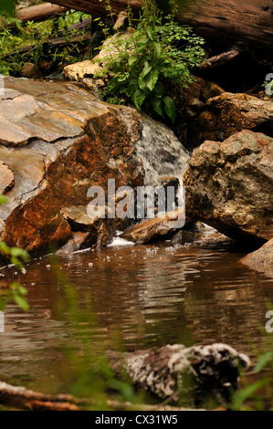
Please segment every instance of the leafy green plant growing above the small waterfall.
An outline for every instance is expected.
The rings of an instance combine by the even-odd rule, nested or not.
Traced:
[[[190,70],[204,58],[204,40],[189,26],[175,23],[173,16],[163,18],[152,1],[142,5],[135,28],[132,24],[130,20],[124,36],[112,37],[104,44],[108,55],[96,77],[111,78],[101,95],[106,100],[115,96],[132,101],[138,110],[174,122],[176,108],[164,93],[164,81],[172,79],[184,87],[193,81]]]

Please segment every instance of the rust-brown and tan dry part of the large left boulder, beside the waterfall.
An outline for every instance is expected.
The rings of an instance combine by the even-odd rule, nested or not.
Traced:
[[[88,204],[90,186],[107,193],[108,179],[116,187],[142,185],[135,156],[140,120],[136,110],[107,105],[73,84],[5,79],[0,160],[15,185],[0,207],[1,239],[28,252],[62,246],[72,232],[60,210]],[[98,232],[92,244],[103,246],[108,238],[101,225]]]

